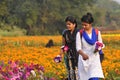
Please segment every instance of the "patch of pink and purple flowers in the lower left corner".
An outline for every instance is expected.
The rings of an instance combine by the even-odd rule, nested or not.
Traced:
[[[37,72],[40,73],[44,79],[44,67],[39,64],[23,63],[20,66],[18,61],[9,61],[7,66],[3,66],[3,63],[0,63],[0,74],[4,80],[27,80],[32,74],[33,77],[37,76]],[[47,80],[55,80],[54,78],[49,78]]]

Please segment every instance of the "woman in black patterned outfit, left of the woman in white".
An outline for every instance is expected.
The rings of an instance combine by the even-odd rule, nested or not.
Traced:
[[[65,65],[68,71],[68,80],[77,80],[76,79],[76,70],[78,64],[78,53],[76,51],[76,34],[77,34],[77,22],[76,19],[72,16],[68,16],[65,19],[66,27],[62,34],[62,51],[63,48],[67,46],[68,50],[64,53]]]

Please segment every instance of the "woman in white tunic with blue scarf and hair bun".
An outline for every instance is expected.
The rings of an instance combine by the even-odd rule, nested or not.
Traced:
[[[99,78],[104,78],[99,52],[94,53],[95,42],[100,41],[102,43],[102,38],[100,31],[98,31],[98,36],[96,35],[95,29],[92,27],[93,21],[91,13],[84,15],[81,18],[82,37],[80,31],[76,35],[76,49],[79,53],[79,80],[99,80]]]

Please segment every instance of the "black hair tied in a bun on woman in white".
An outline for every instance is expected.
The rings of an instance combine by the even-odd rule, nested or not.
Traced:
[[[83,15],[81,18],[81,22],[85,22],[88,24],[91,24],[94,22],[93,16],[91,13],[87,13],[86,15]]]

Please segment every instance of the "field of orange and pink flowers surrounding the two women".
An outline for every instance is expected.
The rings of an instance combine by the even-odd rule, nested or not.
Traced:
[[[102,38],[104,80],[120,80],[120,35],[103,34]],[[46,48],[50,39],[55,46]],[[42,80],[42,77],[63,80],[64,61],[53,60],[60,52],[61,39],[61,36],[0,37],[0,80]]]

